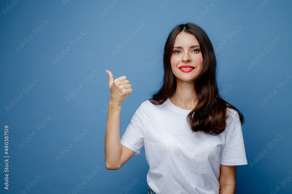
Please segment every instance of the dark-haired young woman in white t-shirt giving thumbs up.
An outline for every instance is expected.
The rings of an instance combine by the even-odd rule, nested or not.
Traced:
[[[244,117],[218,93],[216,58],[206,32],[193,23],[175,26],[163,64],[163,85],[139,106],[121,139],[121,104],[133,90],[126,76],[114,80],[107,70],[106,168],[119,169],[145,146],[147,193],[233,194],[236,167],[247,164]]]

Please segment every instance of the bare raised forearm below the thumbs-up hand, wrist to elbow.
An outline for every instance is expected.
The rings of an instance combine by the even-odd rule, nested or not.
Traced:
[[[110,101],[105,132],[105,164],[112,169],[117,167],[122,154],[120,113],[121,105],[114,104],[113,101]]]

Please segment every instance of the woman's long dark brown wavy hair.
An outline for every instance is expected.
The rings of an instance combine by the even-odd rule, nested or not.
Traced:
[[[185,32],[194,35],[200,45],[203,68],[194,80],[194,90],[197,95],[197,106],[187,115],[193,132],[204,131],[207,134],[220,134],[226,128],[226,118],[229,116],[227,107],[239,113],[241,125],[244,124],[244,116],[234,106],[220,97],[216,82],[217,61],[213,45],[206,32],[194,23],[178,24],[169,33],[164,46],[163,65],[164,79],[161,88],[149,99],[152,104],[161,105],[176,90],[176,77],[174,76],[170,57],[178,33]]]

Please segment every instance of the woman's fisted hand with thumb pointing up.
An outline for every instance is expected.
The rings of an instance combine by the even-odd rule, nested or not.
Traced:
[[[132,85],[126,76],[114,80],[112,72],[109,70],[106,72],[109,75],[110,100],[117,106],[122,105],[126,97],[133,92]]]

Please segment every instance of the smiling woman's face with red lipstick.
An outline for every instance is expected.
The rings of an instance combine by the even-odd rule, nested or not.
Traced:
[[[197,78],[203,68],[203,56],[197,38],[189,33],[180,32],[175,37],[170,57],[171,69],[177,79],[191,81]],[[184,65],[190,70],[180,69]]]

